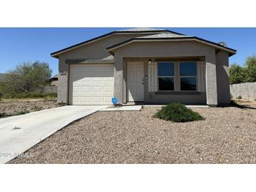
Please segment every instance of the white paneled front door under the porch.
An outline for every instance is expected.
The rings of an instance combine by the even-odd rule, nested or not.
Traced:
[[[144,101],[144,63],[127,63],[128,102]]]

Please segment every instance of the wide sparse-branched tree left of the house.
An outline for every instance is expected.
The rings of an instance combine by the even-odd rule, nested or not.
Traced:
[[[46,62],[23,62],[6,73],[2,92],[15,95],[20,92],[43,90],[51,72]]]

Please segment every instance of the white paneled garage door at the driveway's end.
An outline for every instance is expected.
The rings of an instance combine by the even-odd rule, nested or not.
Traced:
[[[112,104],[113,64],[71,64],[69,104]]]

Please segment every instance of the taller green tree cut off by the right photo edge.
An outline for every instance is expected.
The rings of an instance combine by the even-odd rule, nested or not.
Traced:
[[[245,61],[247,82],[256,82],[256,55],[250,56]]]

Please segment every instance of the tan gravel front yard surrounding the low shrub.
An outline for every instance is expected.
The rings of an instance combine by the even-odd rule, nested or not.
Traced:
[[[256,163],[256,109],[194,108],[206,120],[190,123],[156,110],[97,112],[10,163]]]

